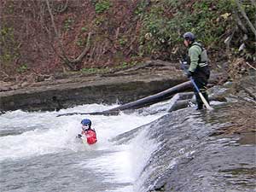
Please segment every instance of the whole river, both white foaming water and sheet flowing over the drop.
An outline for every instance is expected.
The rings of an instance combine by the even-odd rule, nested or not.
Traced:
[[[1,191],[256,191],[255,143],[211,137],[229,125],[230,104],[167,113],[174,101],[116,116],[56,117],[116,104],[0,115]],[[93,146],[76,138],[85,118],[96,129]]]

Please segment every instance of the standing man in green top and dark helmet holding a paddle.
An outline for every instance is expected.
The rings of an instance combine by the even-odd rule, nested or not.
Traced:
[[[207,102],[207,83],[210,78],[210,68],[208,66],[207,50],[202,45],[195,41],[195,35],[192,32],[185,32],[183,34],[184,45],[189,49],[187,56],[187,63],[189,64],[188,78],[192,77],[195,84],[198,86],[201,94],[206,98]],[[203,102],[198,92],[195,91],[195,98],[197,102],[197,109],[203,108]]]

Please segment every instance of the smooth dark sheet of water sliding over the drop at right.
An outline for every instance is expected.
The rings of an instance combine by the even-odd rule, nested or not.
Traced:
[[[137,180],[141,191],[256,191],[255,132],[212,134],[230,124],[220,110],[229,105],[185,108],[117,137],[127,142],[145,129],[160,143]]]

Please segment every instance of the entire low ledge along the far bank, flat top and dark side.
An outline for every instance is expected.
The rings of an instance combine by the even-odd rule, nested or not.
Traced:
[[[80,104],[133,102],[166,90],[187,79],[173,63],[148,61],[118,73],[81,76],[0,92],[0,111],[59,110]]]

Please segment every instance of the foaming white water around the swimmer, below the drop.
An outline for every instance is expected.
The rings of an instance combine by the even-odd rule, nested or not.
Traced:
[[[152,108],[158,106],[162,110],[162,104]],[[90,104],[59,112],[17,110],[1,115],[1,191],[134,191],[133,183],[157,143],[148,140],[145,131],[126,144],[116,145],[111,139],[160,118],[165,111],[56,117],[113,107]],[[85,118],[96,129],[98,142],[93,146],[76,138]]]

